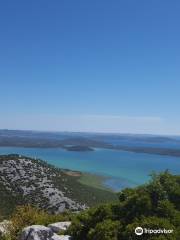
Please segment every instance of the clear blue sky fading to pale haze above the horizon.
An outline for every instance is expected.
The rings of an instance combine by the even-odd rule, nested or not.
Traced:
[[[180,134],[180,1],[0,2],[0,128]]]

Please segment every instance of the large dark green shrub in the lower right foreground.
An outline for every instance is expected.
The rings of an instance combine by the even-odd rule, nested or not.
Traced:
[[[67,230],[73,240],[179,240],[180,178],[168,171],[153,174],[149,184],[124,189],[119,203],[101,205],[77,215]],[[173,234],[143,234],[135,228],[173,229]]]

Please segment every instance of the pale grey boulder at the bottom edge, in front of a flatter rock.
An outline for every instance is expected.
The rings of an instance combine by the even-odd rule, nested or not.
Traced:
[[[51,228],[32,225],[24,228],[19,240],[70,240],[68,235],[57,235]]]

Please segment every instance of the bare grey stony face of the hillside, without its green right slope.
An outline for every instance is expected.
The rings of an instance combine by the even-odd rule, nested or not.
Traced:
[[[0,158],[0,183],[7,191],[51,213],[66,209],[83,210],[85,204],[72,199],[72,191],[66,186],[67,175],[43,161],[19,155]]]

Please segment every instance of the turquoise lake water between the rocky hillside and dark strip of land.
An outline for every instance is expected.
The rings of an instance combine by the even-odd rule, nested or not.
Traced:
[[[60,168],[107,176],[105,184],[114,190],[145,183],[152,171],[169,169],[180,174],[179,157],[107,149],[71,152],[60,148],[0,147],[0,154],[12,153],[40,158]]]

